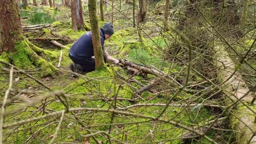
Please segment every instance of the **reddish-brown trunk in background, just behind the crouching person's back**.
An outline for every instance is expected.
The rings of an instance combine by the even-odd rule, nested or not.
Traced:
[[[81,0],[71,1],[71,19],[73,23],[73,29],[84,30],[84,17]]]

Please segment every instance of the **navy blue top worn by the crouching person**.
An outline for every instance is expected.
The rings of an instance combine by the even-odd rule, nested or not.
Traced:
[[[100,42],[102,51],[105,51],[105,35],[100,28]],[[92,44],[92,32],[89,31],[82,35],[69,49],[69,54],[77,59],[91,58],[94,55]]]

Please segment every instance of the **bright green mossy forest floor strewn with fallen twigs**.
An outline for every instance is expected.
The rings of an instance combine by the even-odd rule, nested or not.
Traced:
[[[130,5],[122,7],[123,14],[132,13],[132,9],[127,10],[127,7]],[[86,7],[84,11],[87,15]],[[109,7],[106,12],[110,12]],[[193,58],[193,67],[199,72],[191,70],[188,85],[184,89],[179,88],[187,81],[188,55],[187,49],[183,48],[186,44],[180,40],[179,44],[174,44],[178,36],[171,31],[163,31],[161,19],[155,17],[143,24],[143,41],[139,43],[138,29],[125,18],[130,15],[118,15],[114,21],[115,34],[106,41],[105,49],[115,58],[163,71],[165,76],[108,64],[106,69],[76,74],[78,77],[75,78],[69,69],[68,50],[90,29],[72,30],[71,13],[65,7],[59,7],[57,11],[49,6],[31,6],[30,10],[21,10],[20,13],[21,17],[29,17],[22,19],[23,26],[51,25],[24,30],[31,43],[45,53],[51,53],[46,56],[47,61],[57,66],[61,51],[63,53],[59,71],[53,75],[45,75],[44,69],[38,68],[23,69],[25,73],[14,70],[9,96],[11,102],[6,107],[4,142],[49,143],[53,139],[57,143],[235,141],[230,137],[231,126],[224,116],[202,138],[191,132],[190,129],[198,133],[205,131],[202,127],[210,125],[222,112],[225,108],[222,93],[221,90],[212,90],[212,84],[206,81],[210,79],[218,83],[214,66],[198,57]],[[38,17],[44,21],[33,21]],[[99,22],[100,27],[110,20],[110,14],[106,14],[105,19]],[[85,17],[85,22],[90,28],[89,18]],[[66,48],[60,49],[51,43],[52,40]],[[1,95],[8,89],[9,73],[10,67],[1,71]],[[253,76],[249,78],[254,79]],[[47,90],[45,85],[51,90]],[[151,86],[150,89],[138,92],[147,85]]]

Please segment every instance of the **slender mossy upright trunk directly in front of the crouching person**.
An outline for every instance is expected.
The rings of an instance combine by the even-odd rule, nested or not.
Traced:
[[[99,23],[97,17],[97,2],[96,0],[89,0],[88,3],[89,9],[89,18],[92,29],[92,43],[93,43],[93,51],[95,58],[95,69],[101,69],[105,65],[103,61],[103,53],[100,42],[100,31],[99,31]]]

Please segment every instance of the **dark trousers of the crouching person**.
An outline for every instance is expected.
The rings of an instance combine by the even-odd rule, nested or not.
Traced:
[[[83,58],[77,59],[69,54],[69,58],[76,64],[80,64],[82,66],[83,72],[91,72],[95,70],[95,60],[94,58]],[[107,58],[103,56],[104,61],[106,62]]]

